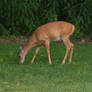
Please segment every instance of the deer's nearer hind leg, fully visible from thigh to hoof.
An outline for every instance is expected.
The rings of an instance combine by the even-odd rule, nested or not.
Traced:
[[[71,45],[70,45],[70,41],[68,38],[63,39],[63,41],[64,41],[64,44],[66,46],[66,53],[65,53],[64,59],[62,61],[62,64],[65,64],[65,61],[67,59],[67,55],[68,55],[70,48],[71,48]],[[71,52],[71,54],[72,54],[72,52]]]

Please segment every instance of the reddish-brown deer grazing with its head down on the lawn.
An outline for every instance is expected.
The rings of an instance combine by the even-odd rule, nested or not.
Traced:
[[[46,47],[49,64],[52,64],[50,57],[50,42],[61,39],[63,40],[66,47],[66,52],[62,64],[65,64],[69,52],[70,52],[69,54],[69,63],[70,63],[72,61],[74,44],[70,42],[69,38],[71,34],[74,32],[74,30],[75,30],[75,26],[72,23],[66,21],[49,22],[47,24],[39,26],[33,32],[33,34],[29,36],[29,39],[26,42],[26,44],[24,46],[21,46],[21,49],[18,54],[19,56],[18,63],[19,64],[24,63],[25,56],[27,55],[28,51],[36,46],[36,50],[31,60],[31,64],[32,64],[41,46],[44,45]]]

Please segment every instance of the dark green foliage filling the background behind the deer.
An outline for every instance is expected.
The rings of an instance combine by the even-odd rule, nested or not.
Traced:
[[[92,0],[1,0],[0,24],[9,35],[31,35],[40,25],[64,20],[73,23],[73,38],[92,37]],[[1,31],[1,30],[0,30]]]

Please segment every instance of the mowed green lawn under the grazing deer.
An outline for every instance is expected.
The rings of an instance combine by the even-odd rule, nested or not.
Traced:
[[[20,43],[0,42],[0,92],[92,92],[92,44],[75,44],[71,64],[62,65],[65,46],[51,43],[52,65],[48,64],[45,47],[34,63],[18,64]]]

